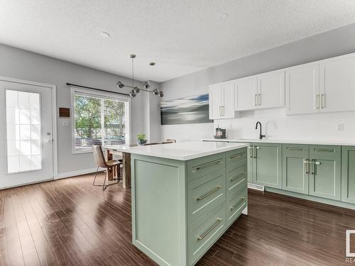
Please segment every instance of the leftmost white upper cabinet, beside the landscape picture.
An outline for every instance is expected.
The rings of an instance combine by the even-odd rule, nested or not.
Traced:
[[[209,86],[209,119],[234,118],[234,83]]]

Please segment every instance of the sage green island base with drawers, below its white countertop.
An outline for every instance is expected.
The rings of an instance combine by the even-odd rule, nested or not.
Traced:
[[[192,160],[131,155],[133,245],[195,265],[247,207],[247,148]]]

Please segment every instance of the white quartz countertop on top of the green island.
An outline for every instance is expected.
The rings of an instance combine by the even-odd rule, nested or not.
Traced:
[[[111,145],[104,146],[104,148],[116,150],[122,153],[133,153],[138,155],[148,155],[185,161],[207,155],[224,153],[229,150],[236,150],[248,146],[249,143],[188,141],[136,147],[131,147],[129,145]]]

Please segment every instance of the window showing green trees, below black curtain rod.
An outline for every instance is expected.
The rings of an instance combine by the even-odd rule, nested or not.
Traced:
[[[92,151],[92,145],[129,143],[129,98],[72,89],[73,152]]]

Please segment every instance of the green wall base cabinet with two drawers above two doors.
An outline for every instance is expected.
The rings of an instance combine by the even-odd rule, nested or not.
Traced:
[[[338,145],[283,145],[283,189],[341,200],[342,152]]]

